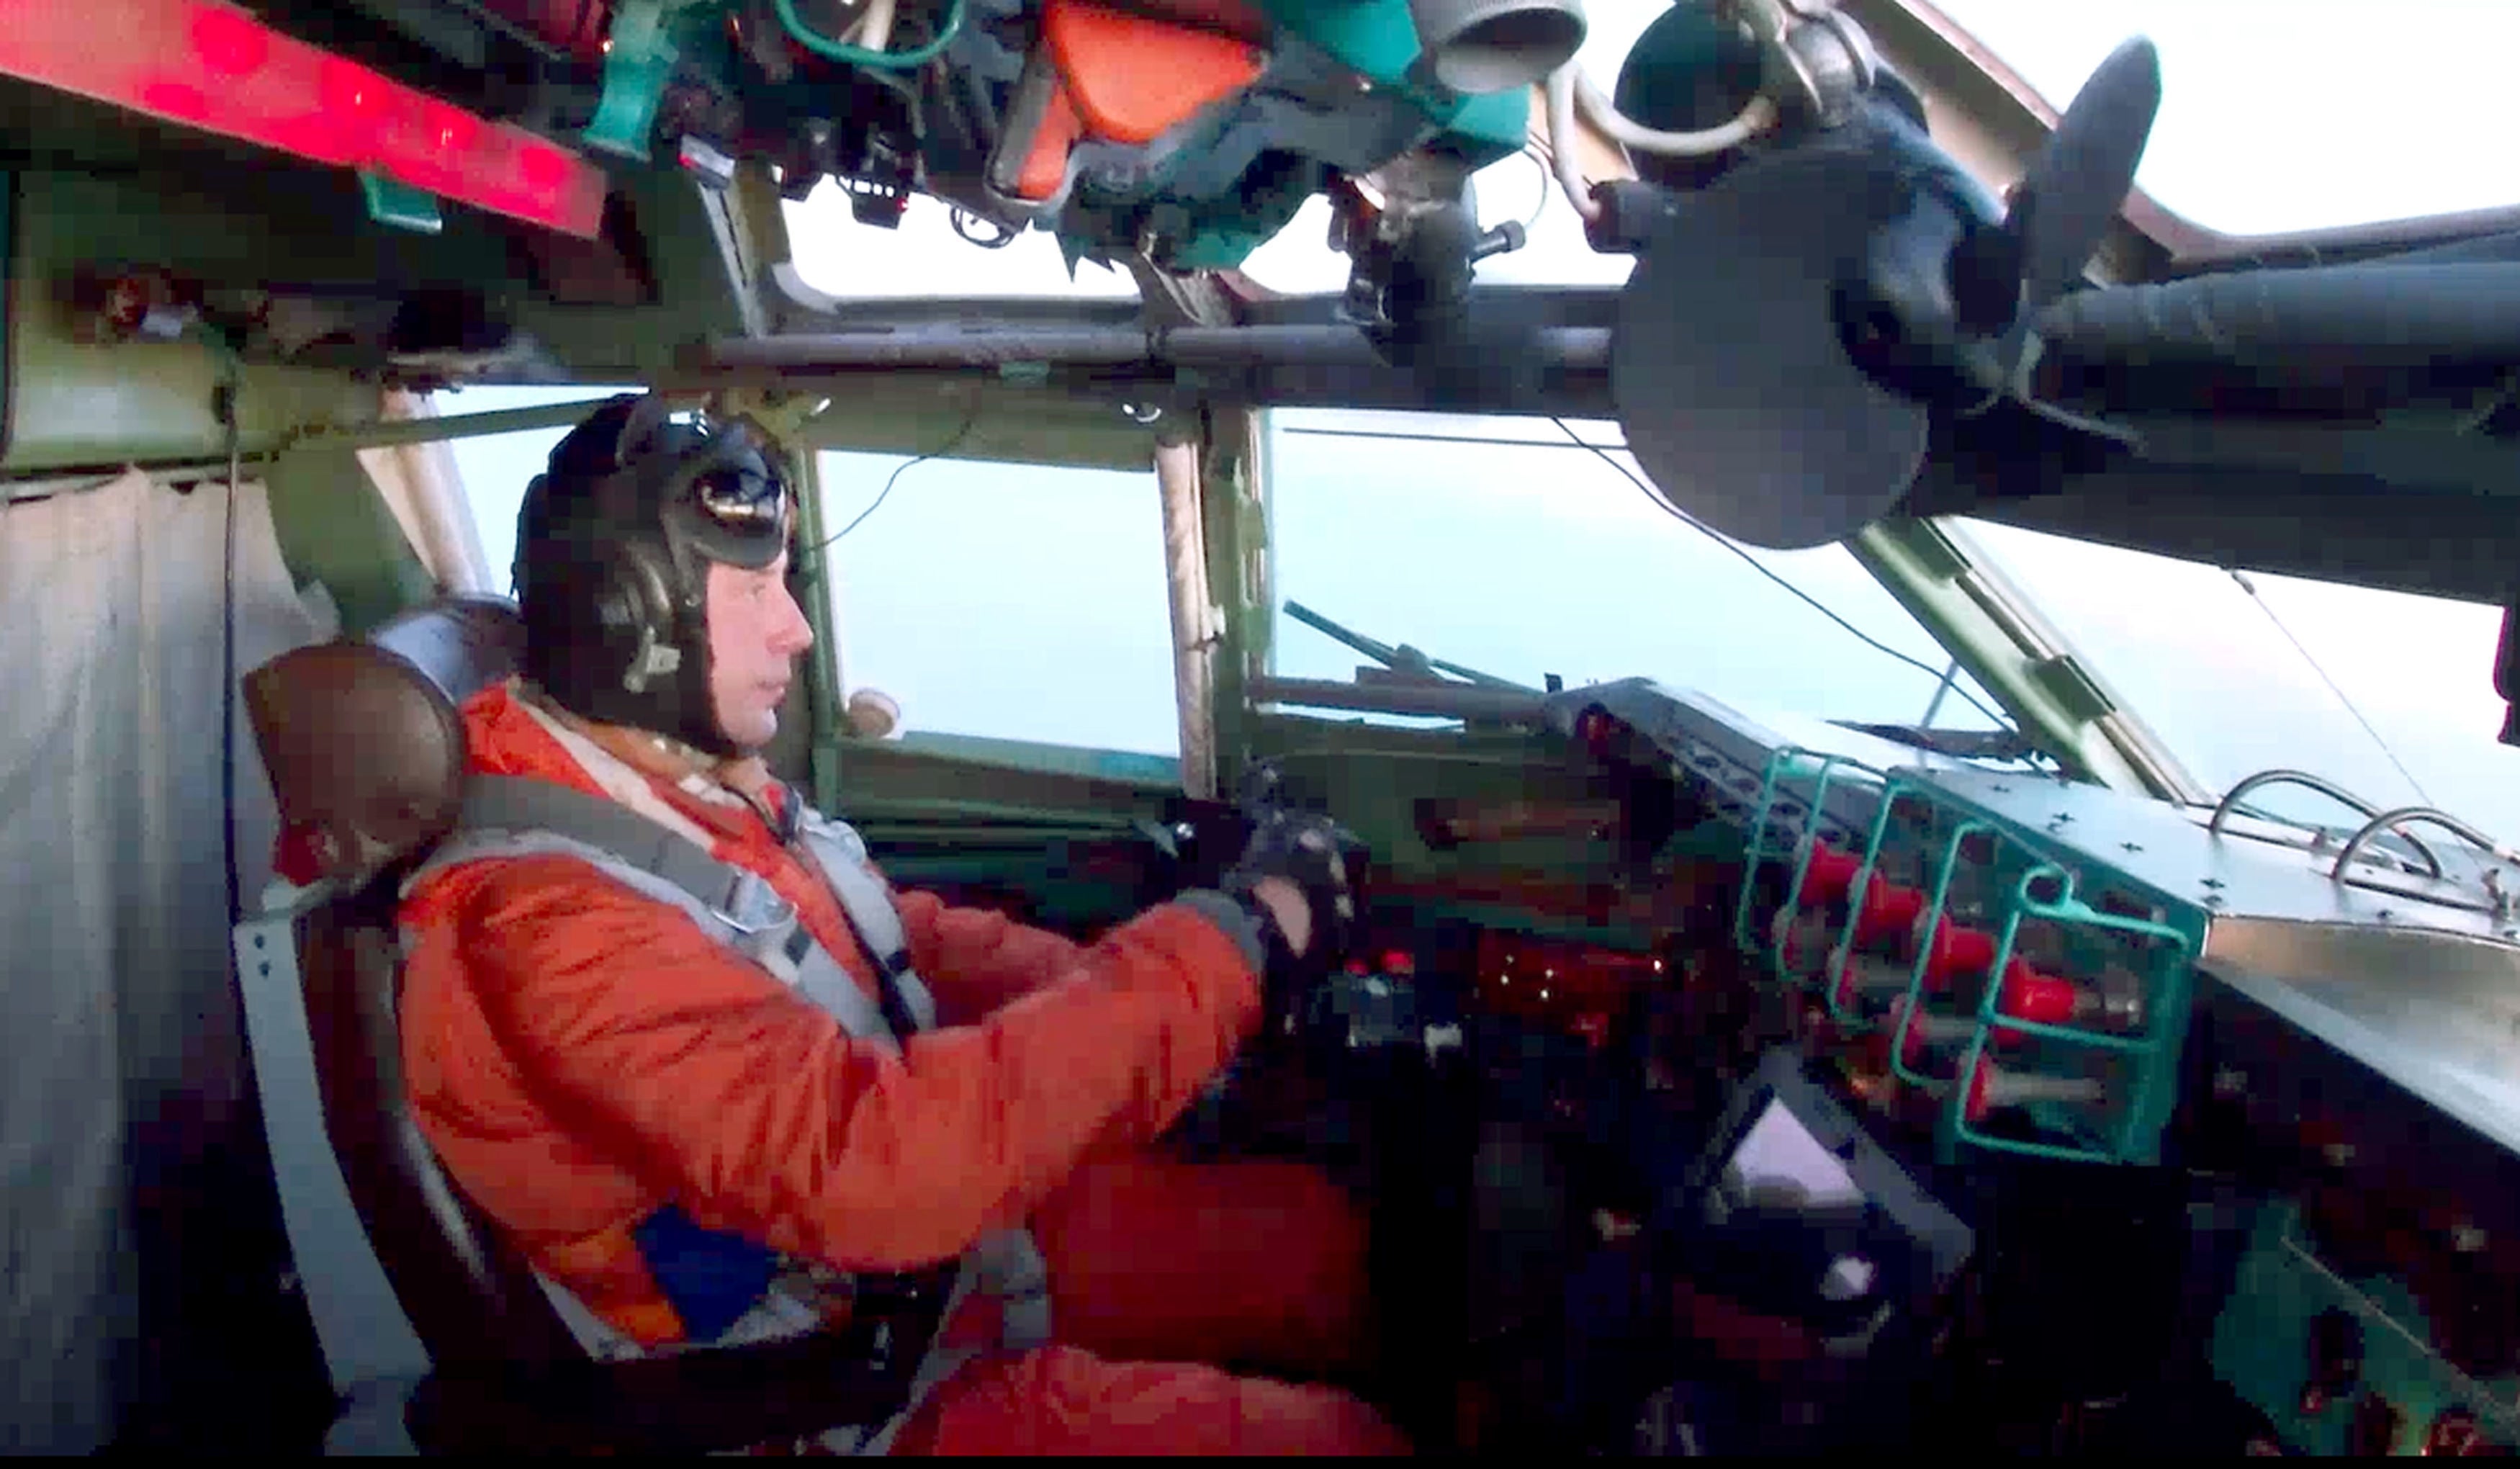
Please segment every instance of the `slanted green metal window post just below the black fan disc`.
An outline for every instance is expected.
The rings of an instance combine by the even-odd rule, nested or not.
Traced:
[[[1961,660],[2041,751],[2069,774],[2104,786],[2180,799],[2160,771],[2129,758],[2076,688],[2056,683],[2046,658],[2026,650],[1968,587],[1968,559],[1925,522],[1885,519],[1850,537],[1855,559]],[[2082,683],[2089,683],[2082,675]]]

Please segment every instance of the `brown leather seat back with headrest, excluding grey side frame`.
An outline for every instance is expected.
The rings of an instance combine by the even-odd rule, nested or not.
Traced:
[[[325,1134],[386,1280],[441,1371],[585,1356],[522,1255],[438,1167],[403,1091],[396,887],[454,826],[456,706],[522,655],[514,605],[451,597],[244,678],[282,844],[335,884],[297,925]]]

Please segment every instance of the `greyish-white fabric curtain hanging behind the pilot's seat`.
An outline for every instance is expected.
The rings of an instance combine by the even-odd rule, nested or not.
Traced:
[[[260,484],[134,471],[0,506],[0,1451],[86,1451],[149,1368],[146,1179],[247,1096],[227,950],[227,776],[247,905],[272,801],[222,678],[320,635]],[[232,597],[232,602],[229,602]],[[186,1262],[192,1267],[192,1262]],[[164,1368],[164,1363],[159,1363]]]

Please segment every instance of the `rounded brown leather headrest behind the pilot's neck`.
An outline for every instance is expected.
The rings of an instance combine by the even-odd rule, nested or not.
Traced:
[[[282,847],[312,877],[363,882],[444,837],[464,799],[456,706],[522,660],[514,602],[446,597],[368,637],[297,648],[247,673]]]

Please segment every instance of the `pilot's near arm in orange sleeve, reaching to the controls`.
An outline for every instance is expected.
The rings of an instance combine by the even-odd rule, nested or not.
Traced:
[[[1023,1220],[1091,1144],[1159,1136],[1260,1020],[1263,940],[1222,895],[1091,947],[925,915],[935,955],[975,945],[1053,983],[902,1056],[567,857],[459,867],[426,905],[421,942],[464,945],[486,1056],[701,1225],[847,1270]]]

